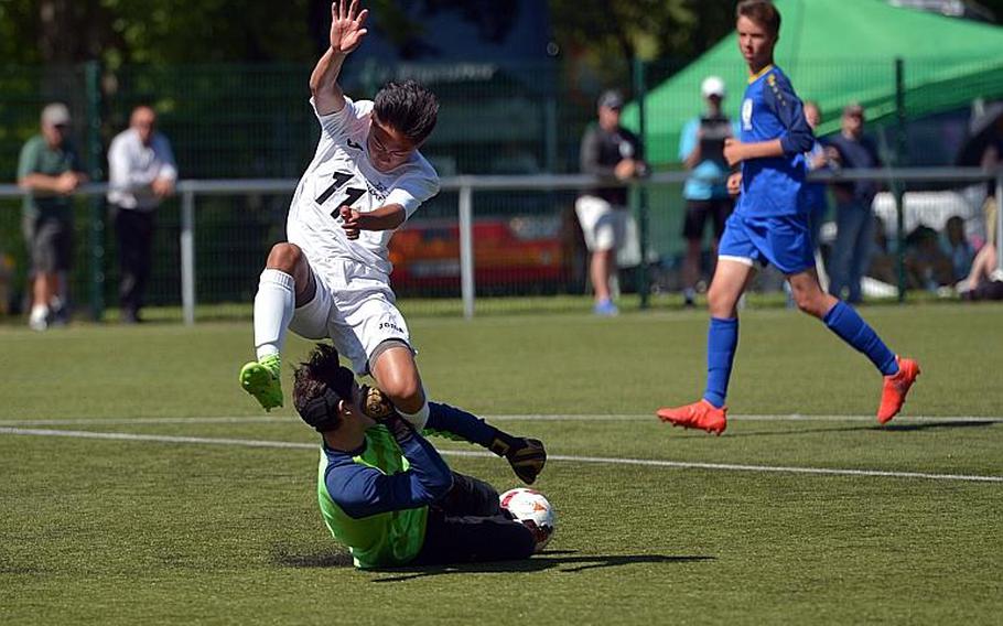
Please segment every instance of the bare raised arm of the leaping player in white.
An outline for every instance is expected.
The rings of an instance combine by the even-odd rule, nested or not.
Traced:
[[[337,84],[342,64],[363,42],[368,30],[363,28],[369,15],[359,11],[358,0],[336,0],[331,3],[331,46],[317,61],[310,75],[310,93],[320,115],[331,115],[345,108],[345,95]]]

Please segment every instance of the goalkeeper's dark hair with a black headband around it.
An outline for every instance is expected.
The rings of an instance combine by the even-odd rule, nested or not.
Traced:
[[[303,421],[317,432],[331,432],[342,425],[338,401],[352,401],[352,370],[338,363],[337,350],[317,344],[306,361],[293,373],[292,401]]]

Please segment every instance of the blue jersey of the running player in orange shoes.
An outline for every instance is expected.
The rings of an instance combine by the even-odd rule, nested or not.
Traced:
[[[751,217],[794,215],[808,209],[802,198],[805,155],[815,137],[801,100],[779,67],[768,65],[748,80],[742,100],[743,143],[780,140],[781,156],[742,162],[742,193],[735,213]]]

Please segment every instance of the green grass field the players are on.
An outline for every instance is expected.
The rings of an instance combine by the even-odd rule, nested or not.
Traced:
[[[0,624],[999,624],[1003,307],[863,313],[924,367],[904,418],[818,322],[748,311],[721,438],[651,417],[702,389],[701,313],[412,319],[435,398],[547,442],[559,526],[385,572],[327,536],[316,436],[237,388],[250,324],[0,328]]]

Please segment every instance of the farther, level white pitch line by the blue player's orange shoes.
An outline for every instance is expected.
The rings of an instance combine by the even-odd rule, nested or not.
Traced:
[[[655,421],[655,413],[623,414],[571,414],[571,413],[526,413],[481,415],[489,422],[540,421],[540,422],[633,422]],[[743,422],[873,422],[874,415],[729,415],[729,420]],[[917,415],[898,417],[894,423],[910,422],[986,422],[1003,423],[1003,417],[996,415]],[[0,427],[56,427],[56,425],[99,425],[99,424],[229,424],[229,423],[299,423],[295,415],[223,415],[192,418],[60,418],[40,420],[2,420]]]

